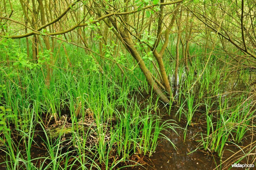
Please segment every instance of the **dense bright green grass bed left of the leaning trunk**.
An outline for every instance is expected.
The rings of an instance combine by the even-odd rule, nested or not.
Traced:
[[[66,48],[72,51],[71,46]],[[60,53],[63,57],[57,59],[56,66],[65,68],[66,55],[64,51]],[[75,65],[68,70],[53,68],[49,88],[44,85],[46,73],[41,66],[16,67],[19,79],[13,78],[14,83],[0,76],[4,80],[1,87],[6,87],[6,90],[1,88],[0,105],[11,110],[7,109],[8,116],[3,120],[11,130],[6,130],[9,127],[1,130],[0,148],[6,153],[2,166],[114,169],[126,166],[125,161],[130,162],[128,166],[139,165],[132,155],[151,157],[161,138],[171,142],[163,131],[175,132],[174,127],[178,125],[157,115],[158,99],[153,102],[152,91],[145,101],[147,106],[137,101],[138,93],[151,90],[139,68],[125,73],[125,78],[120,76],[116,65],[113,67],[105,61],[106,73],[102,75],[80,49],[70,54]],[[131,67],[129,63],[124,65]],[[57,131],[53,131],[54,126]],[[21,137],[18,143],[12,138],[13,131]],[[41,142],[37,143],[38,140]],[[45,155],[33,155],[31,149],[35,146],[43,148]]]

